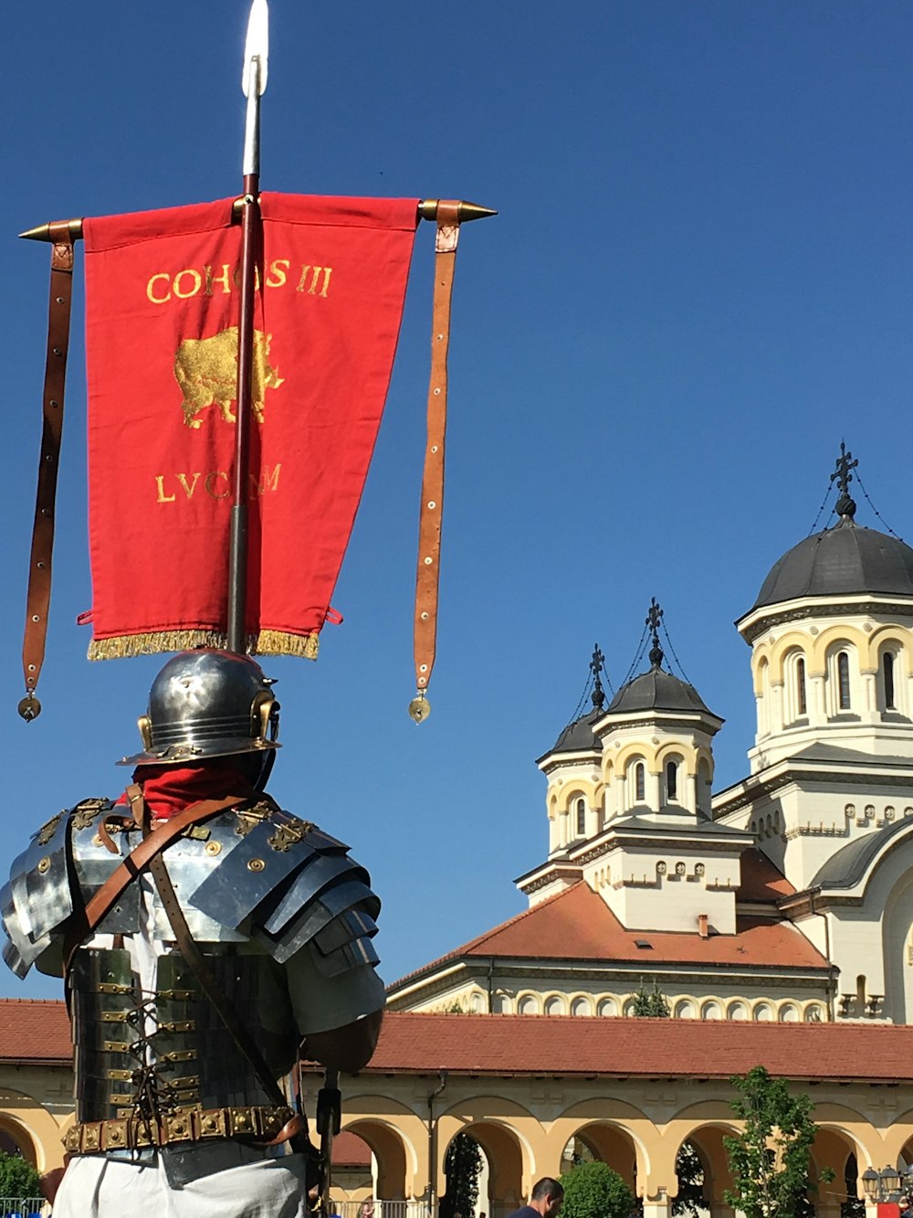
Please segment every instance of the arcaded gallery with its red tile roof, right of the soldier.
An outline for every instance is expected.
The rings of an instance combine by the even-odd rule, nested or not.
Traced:
[[[867,1168],[913,1164],[909,1028],[698,1032],[678,1019],[405,1013],[387,1024],[371,1066],[343,1080],[343,1129],[370,1147],[375,1197],[414,1202],[416,1216],[446,1192],[447,1147],[466,1133],[483,1152],[476,1212],[489,1218],[510,1214],[536,1179],[560,1174],[572,1155],[609,1163],[643,1200],[645,1218],[667,1218],[687,1142],[700,1163],[704,1208],[726,1218],[723,1138],[739,1129],[729,1079],[762,1061],[814,1102],[812,1179],[822,1168],[835,1173],[812,1199],[817,1218],[840,1218]],[[553,1068],[542,1068],[547,1060]],[[435,1061],[442,1068],[424,1065]],[[318,1086],[314,1077],[312,1111]],[[370,1189],[335,1196],[338,1207]]]

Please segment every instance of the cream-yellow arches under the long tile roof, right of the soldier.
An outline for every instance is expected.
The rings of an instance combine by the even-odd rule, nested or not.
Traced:
[[[448,1077],[436,1102],[430,1139],[427,1096],[436,1088],[435,1077],[386,1082],[382,1091],[373,1086],[358,1094],[353,1080],[343,1121],[343,1128],[373,1152],[379,1200],[415,1200],[421,1202],[416,1213],[422,1212],[429,1200],[430,1144],[435,1196],[439,1197],[447,1189],[447,1147],[458,1133],[467,1133],[484,1156],[478,1212],[491,1218],[504,1218],[522,1205],[539,1177],[565,1170],[573,1140],[578,1142],[575,1149],[609,1163],[643,1197],[645,1218],[670,1213],[678,1192],[676,1157],[690,1142],[704,1177],[704,1207],[712,1218],[732,1212],[723,1200],[732,1186],[723,1138],[736,1133],[738,1123],[726,1083],[612,1080],[606,1086],[605,1080],[514,1078],[489,1080],[484,1086],[481,1079]],[[831,1084],[814,1086],[812,1095],[819,1125],[812,1178],[823,1167],[835,1172],[831,1184],[819,1185],[816,1213],[817,1218],[840,1218],[847,1199],[845,1180],[858,1175],[857,1164],[913,1163],[913,1094],[908,1088],[902,1095],[896,1089],[858,1088],[847,1095],[846,1088]],[[335,1192],[337,1202],[370,1195],[368,1188]]]

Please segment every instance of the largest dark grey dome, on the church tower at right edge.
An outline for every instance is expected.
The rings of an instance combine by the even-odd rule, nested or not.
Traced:
[[[842,519],[774,563],[752,608],[855,592],[913,598],[913,549],[898,537]]]

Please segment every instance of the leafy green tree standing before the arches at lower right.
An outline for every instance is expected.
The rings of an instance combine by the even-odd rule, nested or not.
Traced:
[[[723,1195],[727,1205],[745,1218],[805,1218],[811,1211],[808,1194],[814,1191],[808,1178],[818,1132],[814,1105],[807,1095],[790,1095],[785,1080],[771,1078],[763,1066],[744,1078],[735,1074],[732,1083],[741,1093],[732,1108],[745,1122],[745,1132],[723,1139],[733,1177],[733,1189]],[[833,1180],[833,1170],[823,1168],[820,1179]]]

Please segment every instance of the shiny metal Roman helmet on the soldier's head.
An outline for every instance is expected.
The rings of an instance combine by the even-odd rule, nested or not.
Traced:
[[[142,753],[118,765],[186,765],[236,753],[274,755],[279,703],[256,660],[200,648],[168,660],[138,720]]]

